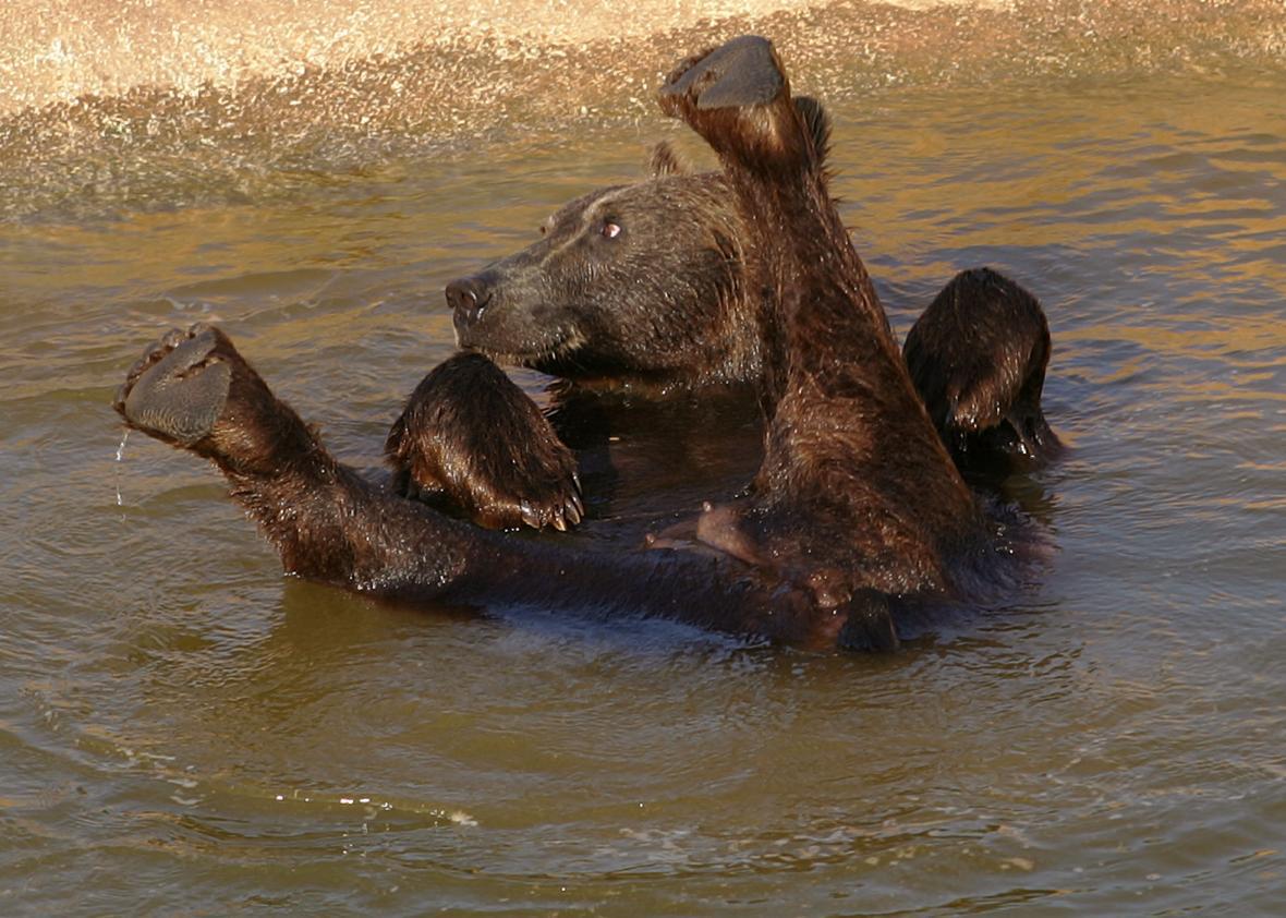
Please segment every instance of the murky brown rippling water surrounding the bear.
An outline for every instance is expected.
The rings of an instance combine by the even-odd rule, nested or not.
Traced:
[[[1022,280],[1071,447],[1008,483],[1057,545],[1034,594],[890,657],[372,604],[283,579],[190,456],[131,437],[117,462],[125,369],[212,319],[378,465],[451,351],[449,279],[657,136],[702,156],[646,105],[674,46],[613,59],[639,89],[584,116],[562,84],[486,130],[332,136],[314,111],[292,162],[184,122],[190,96],[168,147],[89,131],[23,166],[37,126],[71,143],[67,111],[0,122],[0,912],[1282,913],[1281,19],[1175,67],[1087,40],[1058,78],[1030,49],[961,78],[891,49],[881,86],[860,46],[815,50],[863,9],[790,41],[894,323],[962,266]],[[698,501],[747,423],[633,415],[581,537]]]

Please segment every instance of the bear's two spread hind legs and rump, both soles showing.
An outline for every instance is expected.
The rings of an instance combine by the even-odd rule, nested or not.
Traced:
[[[781,329],[765,456],[696,543],[633,554],[454,521],[338,463],[219,329],[171,332],[130,370],[131,427],[211,459],[287,571],[403,600],[634,612],[813,648],[896,645],[918,603],[968,599],[995,537],[921,402],[827,193],[770,42],[685,60],[664,111],[715,149],[748,229],[747,284]],[[998,550],[999,548],[999,550]]]

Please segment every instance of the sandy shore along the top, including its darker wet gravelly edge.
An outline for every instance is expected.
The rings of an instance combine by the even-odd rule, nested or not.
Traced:
[[[8,0],[0,219],[255,199],[493,140],[655,126],[684,53],[770,36],[829,103],[1277,85],[1282,0]]]

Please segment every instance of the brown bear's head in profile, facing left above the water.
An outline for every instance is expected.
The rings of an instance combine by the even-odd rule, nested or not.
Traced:
[[[446,287],[460,347],[584,383],[752,379],[739,219],[719,174],[652,176],[562,207],[541,238]]]

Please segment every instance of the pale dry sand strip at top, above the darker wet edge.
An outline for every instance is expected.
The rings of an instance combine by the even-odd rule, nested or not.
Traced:
[[[1280,0],[8,0],[0,17],[0,117],[139,87],[195,93],[301,77],[426,49],[535,58],[598,49],[595,73],[635,76],[658,36],[774,28],[786,46],[913,55],[943,69],[1013,50],[1164,58],[1210,48],[1280,55]],[[1015,48],[1013,41],[1022,44]],[[1035,45],[1033,48],[1033,44]],[[1008,48],[1006,48],[1008,45]]]

